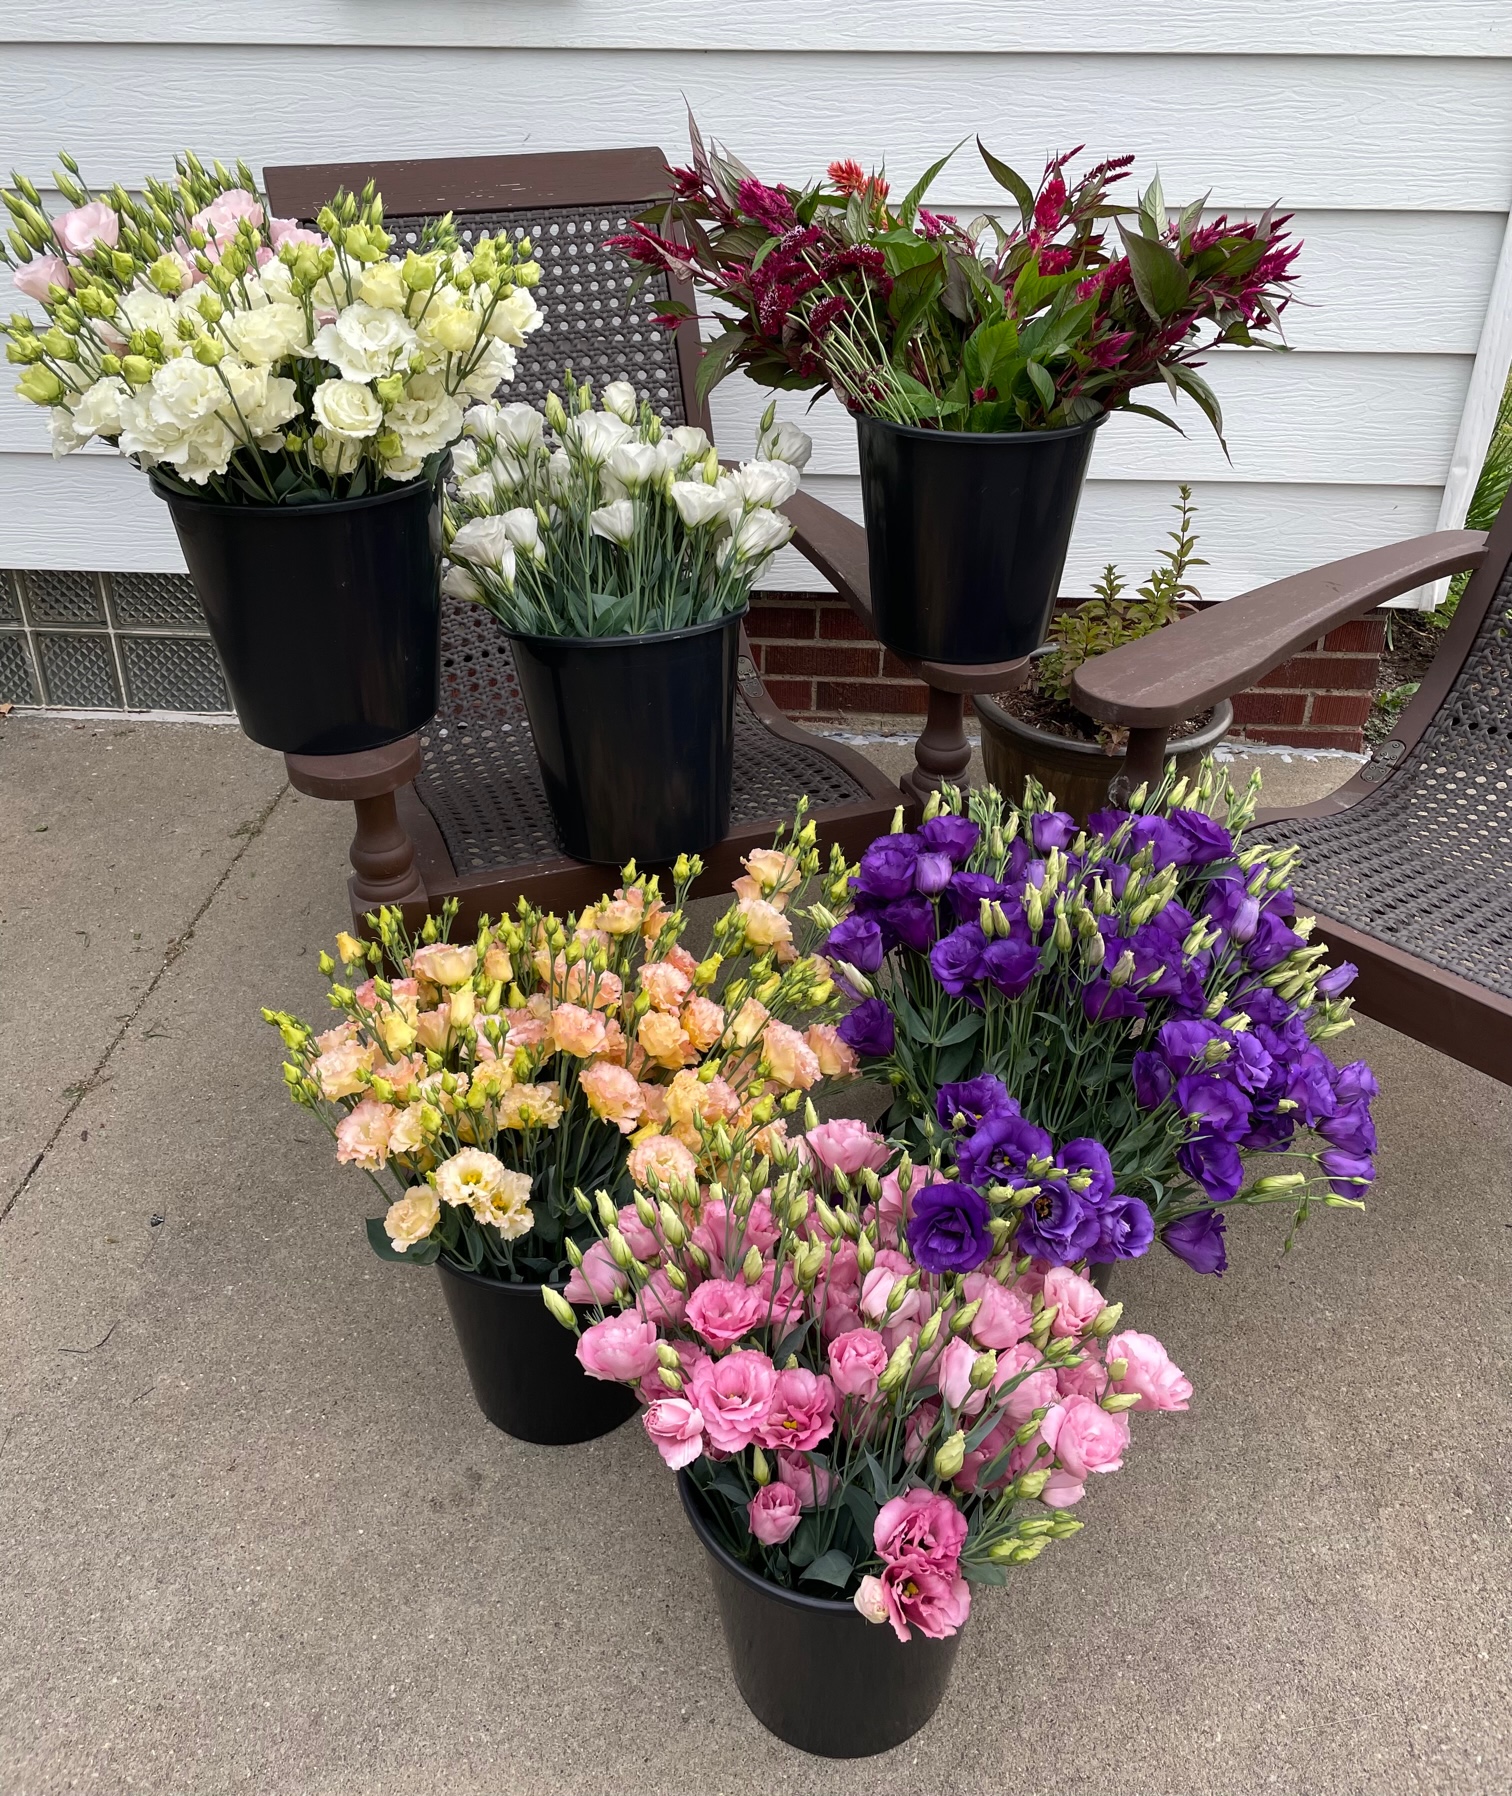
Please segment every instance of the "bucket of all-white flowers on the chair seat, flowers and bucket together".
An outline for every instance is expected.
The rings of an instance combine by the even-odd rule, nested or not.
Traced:
[[[510,636],[567,853],[664,862],[729,828],[740,625],[810,444],[769,408],[729,471],[629,381],[602,401],[569,372],[541,409],[467,415],[445,589]]]

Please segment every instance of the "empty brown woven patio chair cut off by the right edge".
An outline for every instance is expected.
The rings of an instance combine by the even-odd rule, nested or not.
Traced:
[[[1512,499],[1489,535],[1446,530],[1350,555],[1099,656],[1072,695],[1128,726],[1128,781],[1158,776],[1171,724],[1334,625],[1467,568],[1392,735],[1338,792],[1261,821],[1302,846],[1298,896],[1336,957],[1359,966],[1359,1009],[1512,1083]]]

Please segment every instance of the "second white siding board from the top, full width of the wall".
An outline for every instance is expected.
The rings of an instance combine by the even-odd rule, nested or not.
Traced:
[[[417,16],[420,16],[417,13]],[[630,16],[630,14],[627,14]],[[959,41],[959,40],[957,40]],[[1440,57],[993,57],[731,50],[488,50],[27,43],[0,63],[0,167],[41,169],[59,131],[92,171],[194,144],[248,162],[684,142],[686,104],[772,178],[837,153],[910,180],[980,129],[1036,167],[1086,138],[1135,149],[1167,194],[1214,205],[1496,212],[1512,192],[1512,61]],[[142,97],[151,95],[151,106]],[[781,104],[774,104],[781,95]],[[382,104],[375,104],[375,97]],[[959,199],[997,198],[963,158]]]

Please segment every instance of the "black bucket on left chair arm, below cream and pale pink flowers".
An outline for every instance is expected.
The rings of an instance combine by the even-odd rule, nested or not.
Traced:
[[[241,727],[284,754],[356,754],[440,704],[440,489],[217,505],[158,481]]]

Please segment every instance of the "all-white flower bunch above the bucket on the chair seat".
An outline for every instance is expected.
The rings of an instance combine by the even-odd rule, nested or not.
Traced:
[[[668,426],[629,381],[566,379],[544,409],[485,402],[453,454],[445,591],[524,636],[643,636],[742,611],[792,537],[776,506],[812,444],[761,420],[758,460],[720,469],[708,435]]]

